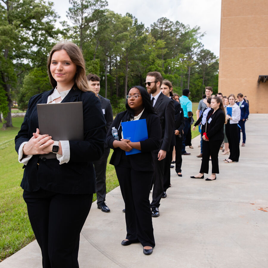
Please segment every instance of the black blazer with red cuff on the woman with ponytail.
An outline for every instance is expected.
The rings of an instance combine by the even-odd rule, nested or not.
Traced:
[[[225,112],[222,109],[217,109],[215,113],[213,109],[208,112],[206,120],[206,135],[209,141],[223,141],[224,133],[223,126],[225,123]],[[211,121],[210,121],[210,118]],[[210,123],[208,123],[210,121]],[[203,135],[203,133],[201,133]]]

